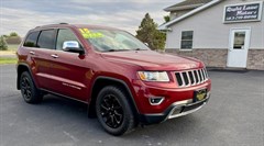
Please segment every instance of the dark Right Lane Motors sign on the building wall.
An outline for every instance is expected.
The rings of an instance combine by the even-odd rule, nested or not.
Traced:
[[[262,5],[263,1],[226,5],[223,22],[261,21]]]

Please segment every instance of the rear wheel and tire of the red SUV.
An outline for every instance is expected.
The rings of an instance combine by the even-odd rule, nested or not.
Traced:
[[[22,72],[20,77],[21,94],[26,103],[38,103],[42,101],[43,96],[35,87],[32,77],[28,71]]]

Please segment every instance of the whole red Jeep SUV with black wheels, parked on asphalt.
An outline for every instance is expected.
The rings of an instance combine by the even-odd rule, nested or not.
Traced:
[[[37,26],[18,58],[16,85],[25,102],[37,103],[46,93],[84,102],[112,135],[189,114],[210,97],[200,60],[153,52],[118,29]]]

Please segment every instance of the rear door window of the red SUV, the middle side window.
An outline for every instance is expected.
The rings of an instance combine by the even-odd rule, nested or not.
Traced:
[[[42,31],[37,41],[37,46],[41,48],[54,49],[55,47],[55,31]]]

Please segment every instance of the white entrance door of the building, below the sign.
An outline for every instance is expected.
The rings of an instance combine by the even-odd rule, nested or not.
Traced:
[[[228,67],[245,68],[250,47],[250,29],[231,29]]]

